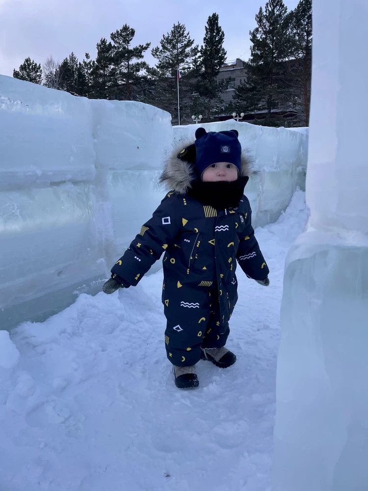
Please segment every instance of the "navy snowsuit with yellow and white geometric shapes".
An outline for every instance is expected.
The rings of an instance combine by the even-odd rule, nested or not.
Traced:
[[[111,270],[136,285],[164,252],[165,347],[177,366],[194,365],[200,348],[224,346],[237,302],[237,262],[253,279],[268,267],[251,224],[249,200],[216,210],[170,191]]]

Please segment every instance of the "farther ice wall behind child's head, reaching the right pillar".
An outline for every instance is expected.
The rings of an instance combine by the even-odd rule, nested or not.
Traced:
[[[200,126],[207,131],[238,131],[241,146],[247,150],[258,171],[258,175],[251,177],[245,188],[252,207],[254,226],[276,221],[288,207],[296,187],[305,189],[308,128],[292,131],[287,128],[238,123],[230,119],[216,123],[174,126],[174,141],[194,141],[195,130]]]

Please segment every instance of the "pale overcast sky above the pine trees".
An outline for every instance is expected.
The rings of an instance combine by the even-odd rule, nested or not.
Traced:
[[[102,37],[128,24],[133,45],[157,46],[178,21],[201,45],[208,17],[216,12],[225,32],[229,60],[249,58],[249,30],[266,0],[0,0],[0,74],[12,75],[27,56],[41,63],[62,61],[72,51],[82,60],[96,57]],[[284,0],[289,9],[298,0]],[[151,49],[146,61],[153,64]]]

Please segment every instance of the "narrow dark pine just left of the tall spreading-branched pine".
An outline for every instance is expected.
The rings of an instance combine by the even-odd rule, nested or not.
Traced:
[[[96,61],[91,64],[91,95],[93,99],[109,99],[112,85],[112,44],[104,37],[97,43]]]

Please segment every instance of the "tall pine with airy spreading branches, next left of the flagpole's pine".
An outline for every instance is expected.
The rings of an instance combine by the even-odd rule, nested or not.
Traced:
[[[140,92],[141,72],[147,67],[141,60],[151,43],[131,46],[135,29],[125,24],[120,30],[112,32],[113,76],[115,80],[115,98],[118,100],[134,100]]]

